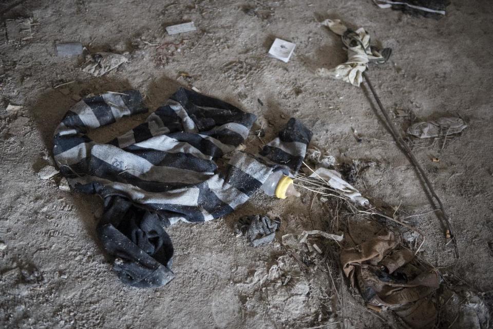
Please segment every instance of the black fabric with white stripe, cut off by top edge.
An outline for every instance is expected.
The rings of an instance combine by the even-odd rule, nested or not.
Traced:
[[[424,16],[440,19],[445,15],[445,8],[450,4],[448,0],[373,0],[380,8],[392,8],[413,16]]]

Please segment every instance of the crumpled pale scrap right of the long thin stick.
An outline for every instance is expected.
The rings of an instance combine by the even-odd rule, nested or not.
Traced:
[[[467,127],[464,120],[443,117],[429,122],[418,122],[407,129],[407,133],[419,138],[441,137],[456,134]]]

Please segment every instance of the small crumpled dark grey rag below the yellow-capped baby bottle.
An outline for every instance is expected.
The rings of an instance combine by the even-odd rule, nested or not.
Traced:
[[[279,220],[271,220],[267,216],[243,216],[235,224],[235,231],[237,235],[247,237],[254,247],[258,247],[274,241],[279,226]]]

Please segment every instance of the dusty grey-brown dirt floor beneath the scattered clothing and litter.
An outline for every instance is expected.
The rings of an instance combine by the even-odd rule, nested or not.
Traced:
[[[18,17],[32,17],[32,38],[8,42],[3,21]],[[379,9],[370,0],[3,1],[0,327],[401,325],[389,312],[367,310],[363,299],[343,280],[333,242],[314,240],[336,250],[326,254],[321,266],[299,262],[280,243],[288,233],[333,227],[328,210],[317,200],[313,202],[313,193],[305,190],[294,200],[257,192],[223,219],[170,227],[176,278],[157,289],[123,285],[97,242],[100,198],[60,190],[59,178],[41,180],[37,172],[52,164],[53,131],[77,100],[90,93],[130,88],[143,92],[146,103],[155,109],[179,86],[194,86],[255,113],[255,129],[263,124],[265,141],[274,138],[290,117],[300,119],[313,130],[312,146],[332,154],[339,163],[361,160],[370,164],[354,183],[363,195],[400,206],[408,214],[428,211],[408,219],[426,236],[420,257],[449,273],[448,278],[453,273],[490,306],[491,17],[493,2],[488,0],[452,1],[439,21]],[[416,156],[450,215],[459,259],[454,258],[453,243],[447,245],[437,217],[429,212],[431,207],[411,165],[377,118],[368,91],[314,74],[319,67],[330,68],[346,60],[340,38],[320,25],[325,18],[365,27],[375,45],[393,49],[389,63],[369,72],[393,113],[408,117],[411,113],[423,120],[460,115],[467,122],[460,136],[445,142],[413,140]],[[195,22],[196,32],[167,35],[164,30],[189,21]],[[296,44],[289,63],[267,56],[275,37]],[[122,53],[129,61],[94,78],[81,71],[82,57],[55,55],[54,42],[69,41],[79,41],[90,51]],[[8,104],[22,108],[7,110]],[[109,140],[145,117],[123,120],[94,136]],[[392,119],[403,129],[409,125],[406,117],[394,115]],[[258,151],[260,141],[254,136],[249,141],[247,150]],[[274,243],[254,248],[235,235],[234,222],[251,214],[281,219]],[[342,301],[335,299],[336,289]],[[444,304],[438,295],[435,301]],[[466,327],[461,324],[466,321],[463,313],[444,314],[439,316],[439,327]]]

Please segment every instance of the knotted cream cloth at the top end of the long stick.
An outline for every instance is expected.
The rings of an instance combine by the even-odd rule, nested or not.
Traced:
[[[391,49],[384,48],[380,51],[370,46],[370,35],[364,28],[353,31],[340,20],[325,20],[322,24],[341,36],[348,51],[348,60],[332,69],[319,68],[316,71],[317,75],[343,80],[359,87],[363,81],[363,72],[369,63],[381,64],[389,59]]]

